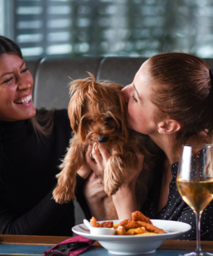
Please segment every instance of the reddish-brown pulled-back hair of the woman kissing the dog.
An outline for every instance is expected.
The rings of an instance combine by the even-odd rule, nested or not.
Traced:
[[[213,138],[213,90],[209,67],[198,57],[183,53],[159,54],[150,58],[153,87],[152,102],[158,118],[176,119],[181,129],[175,133],[177,152],[189,138],[202,132]]]

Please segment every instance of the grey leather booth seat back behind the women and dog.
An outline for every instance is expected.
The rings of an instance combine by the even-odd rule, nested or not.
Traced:
[[[33,102],[36,108],[68,108],[71,79],[88,77],[89,71],[96,80],[111,80],[128,85],[145,62],[141,57],[47,57],[41,60],[26,60],[34,79]],[[210,68],[213,59],[205,59]],[[75,221],[81,224],[83,212],[75,204]]]

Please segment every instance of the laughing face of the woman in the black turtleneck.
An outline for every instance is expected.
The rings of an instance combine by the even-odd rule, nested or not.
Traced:
[[[35,115],[33,78],[23,59],[15,54],[0,58],[0,119],[17,121]]]

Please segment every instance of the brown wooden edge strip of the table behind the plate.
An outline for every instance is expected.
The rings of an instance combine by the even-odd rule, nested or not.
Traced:
[[[54,246],[68,239],[68,236],[30,236],[30,235],[0,235],[1,244],[25,244]],[[100,246],[96,241],[94,246]],[[166,240],[159,249],[195,250],[196,241]],[[203,251],[213,251],[213,241],[201,241]]]

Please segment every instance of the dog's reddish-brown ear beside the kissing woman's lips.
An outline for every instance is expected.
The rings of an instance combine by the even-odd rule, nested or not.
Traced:
[[[122,95],[122,86],[121,85],[114,85],[115,91],[114,91],[114,96],[116,97],[117,100],[117,105],[120,107],[120,122],[122,124],[122,130],[125,136],[125,140],[128,139],[128,129],[127,129],[127,121],[125,118],[125,101],[124,97]]]

